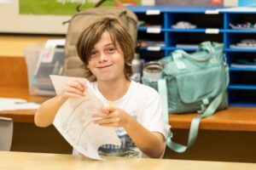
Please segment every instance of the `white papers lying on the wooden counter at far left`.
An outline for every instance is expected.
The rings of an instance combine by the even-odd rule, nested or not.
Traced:
[[[26,99],[0,98],[0,111],[38,109],[40,105],[27,102]]]

